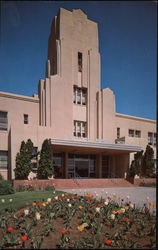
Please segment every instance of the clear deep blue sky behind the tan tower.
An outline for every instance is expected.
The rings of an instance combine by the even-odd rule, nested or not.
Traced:
[[[99,28],[101,87],[116,112],[156,119],[157,14],[154,1],[4,1],[0,91],[32,96],[45,78],[48,37],[60,7],[81,8]]]

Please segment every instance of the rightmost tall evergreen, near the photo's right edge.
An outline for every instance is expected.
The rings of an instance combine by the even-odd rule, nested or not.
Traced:
[[[143,157],[142,175],[145,177],[152,177],[154,173],[154,150],[147,145]]]

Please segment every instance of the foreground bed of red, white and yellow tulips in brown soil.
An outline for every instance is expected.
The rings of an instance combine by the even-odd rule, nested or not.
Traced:
[[[91,194],[55,195],[26,204],[20,211],[2,212],[0,248],[156,247],[156,205],[152,202],[147,200],[138,210],[129,197],[123,201],[116,194],[105,199]]]

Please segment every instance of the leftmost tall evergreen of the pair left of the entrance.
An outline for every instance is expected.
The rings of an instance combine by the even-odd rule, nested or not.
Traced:
[[[33,143],[30,139],[22,141],[20,152],[16,156],[15,179],[27,179],[31,171],[31,159],[33,157]]]

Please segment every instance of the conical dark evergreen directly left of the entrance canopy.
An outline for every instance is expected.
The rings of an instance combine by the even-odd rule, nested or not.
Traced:
[[[48,179],[53,173],[51,143],[50,140],[46,139],[42,144],[39,167],[37,169],[37,178]]]

